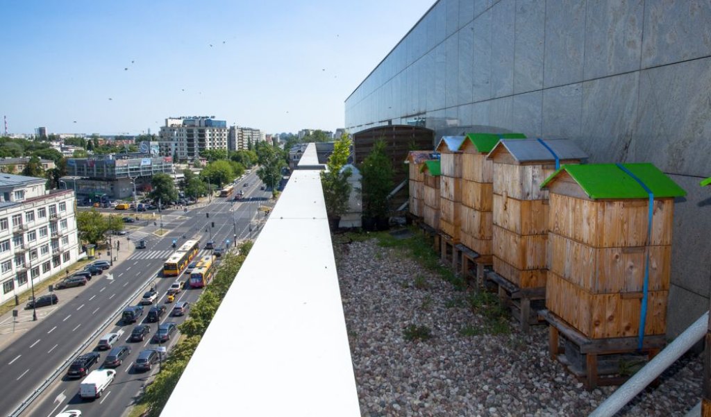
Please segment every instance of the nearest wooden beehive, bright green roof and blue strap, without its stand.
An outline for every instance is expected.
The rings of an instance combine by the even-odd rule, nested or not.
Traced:
[[[647,298],[644,334],[664,335],[673,199],[685,191],[651,163],[563,166],[542,187],[550,191],[547,308],[587,337],[633,337]]]

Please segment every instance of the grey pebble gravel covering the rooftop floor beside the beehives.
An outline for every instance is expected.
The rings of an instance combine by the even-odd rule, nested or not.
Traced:
[[[461,335],[487,319],[400,249],[370,239],[336,244],[336,257],[363,416],[586,416],[615,389],[586,391],[550,359],[545,326]],[[405,340],[411,324],[432,338]],[[702,368],[700,355],[683,357],[618,415],[684,416],[700,400]]]

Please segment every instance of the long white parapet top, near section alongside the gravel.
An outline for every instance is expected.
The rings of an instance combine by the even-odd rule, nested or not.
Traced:
[[[319,171],[295,170],[162,416],[360,416]]]

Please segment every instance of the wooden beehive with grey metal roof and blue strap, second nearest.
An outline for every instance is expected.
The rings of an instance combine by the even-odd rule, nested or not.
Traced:
[[[493,162],[493,269],[519,288],[545,287],[548,191],[540,185],[557,164],[587,158],[567,139],[501,139]]]

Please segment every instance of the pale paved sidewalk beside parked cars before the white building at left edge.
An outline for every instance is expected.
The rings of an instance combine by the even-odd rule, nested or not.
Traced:
[[[11,310],[7,311],[6,313],[0,315],[0,350],[5,349],[7,346],[9,346],[12,342],[14,342],[18,337],[21,335],[25,334],[27,330],[32,329],[35,327],[38,323],[41,323],[43,319],[45,319],[48,315],[54,313],[58,308],[62,307],[62,302],[63,300],[70,300],[77,296],[81,291],[84,291],[84,288],[87,288],[89,286],[95,285],[97,281],[100,281],[101,278],[106,276],[106,274],[112,274],[112,271],[114,270],[115,266],[117,264],[121,264],[122,261],[125,261],[129,256],[131,256],[134,251],[136,250],[135,245],[133,242],[128,242],[127,239],[124,239],[123,237],[112,237],[112,241],[114,245],[116,244],[117,240],[121,242],[119,246],[119,251],[112,251],[112,254],[114,256],[114,266],[111,268],[107,269],[104,271],[103,274],[94,276],[89,283],[87,283],[86,286],[81,286],[81,287],[75,287],[75,288],[66,288],[64,290],[59,290],[59,291],[54,291],[55,294],[57,294],[57,297],[59,298],[59,304],[58,305],[53,305],[51,307],[41,307],[37,308],[37,321],[32,320],[32,309],[30,310],[25,310],[25,305],[27,302],[27,295],[23,294],[21,296],[21,302],[19,305],[14,306]],[[98,251],[97,251],[98,253]],[[107,256],[106,251],[102,250],[101,251],[101,256],[95,257],[92,261],[109,261],[109,256]],[[82,260],[78,261],[77,263],[73,264],[72,266],[69,266],[67,269],[65,269],[65,272],[61,272],[60,274],[55,274],[54,276],[46,279],[45,281],[42,281],[41,283],[36,283],[35,284],[35,296],[43,296],[49,293],[49,285],[50,283],[57,283],[61,281],[65,276],[69,276],[73,274],[75,271],[78,271],[80,269],[83,269],[84,266],[87,264],[87,261]],[[31,294],[30,294],[31,295]],[[14,303],[12,303],[14,304]],[[12,310],[18,310],[18,317],[16,318],[16,321],[13,320],[12,317]]]

